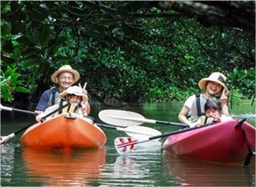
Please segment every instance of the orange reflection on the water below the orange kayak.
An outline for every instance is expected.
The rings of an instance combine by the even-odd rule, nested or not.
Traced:
[[[86,186],[97,180],[105,165],[105,148],[95,150],[39,150],[22,148],[29,181],[42,186]]]

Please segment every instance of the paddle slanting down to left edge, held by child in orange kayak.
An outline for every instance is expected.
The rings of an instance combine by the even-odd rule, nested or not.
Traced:
[[[64,107],[67,107],[67,106],[69,106],[69,105],[70,105],[69,103],[68,103],[68,104],[65,104],[64,106],[59,107],[58,109],[55,109],[54,111],[50,112],[49,114],[45,115],[45,116],[42,117],[42,118],[45,119],[46,117],[52,116],[52,114],[55,114],[55,112],[58,112],[58,111],[60,111],[61,109],[64,109]],[[1,140],[1,141],[0,141],[0,144],[1,144],[1,146],[5,145],[6,142],[7,142],[9,139],[12,139],[12,138],[15,137],[17,134],[19,134],[19,133],[21,133],[22,131],[28,129],[29,127],[31,127],[31,126],[34,125],[34,124],[35,124],[35,123],[29,124],[29,125],[27,125],[26,127],[23,127],[22,129],[17,130],[16,132],[12,132],[12,133],[9,134],[9,135],[1,136],[1,137],[0,137],[0,140]]]

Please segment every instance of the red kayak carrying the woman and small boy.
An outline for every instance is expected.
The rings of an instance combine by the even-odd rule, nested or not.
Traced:
[[[242,163],[255,155],[255,132],[255,127],[249,123],[232,119],[170,135],[163,148],[179,157]]]

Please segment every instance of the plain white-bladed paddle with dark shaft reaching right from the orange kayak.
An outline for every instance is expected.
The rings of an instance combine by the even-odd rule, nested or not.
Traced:
[[[122,128],[122,127],[115,127],[115,126],[105,125],[105,124],[97,124],[97,123],[95,123],[95,124],[100,127],[106,127],[106,128],[115,129],[115,130],[125,132],[130,137],[133,137],[136,139],[143,139],[143,138],[150,137],[153,135],[161,135],[161,132],[159,132],[156,129],[149,128],[149,127],[130,126],[130,127]]]

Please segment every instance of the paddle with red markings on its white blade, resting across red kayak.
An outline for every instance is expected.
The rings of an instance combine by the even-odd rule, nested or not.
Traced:
[[[176,130],[176,131],[173,131],[173,132],[168,132],[168,133],[165,133],[165,134],[156,135],[156,136],[153,136],[153,137],[148,137],[148,138],[141,139],[141,140],[134,139],[132,137],[117,137],[114,140],[115,149],[120,155],[123,155],[125,153],[130,152],[130,150],[133,150],[136,147],[137,144],[141,144],[143,142],[148,142],[148,141],[154,140],[154,139],[160,139],[160,138],[163,138],[163,137],[167,137],[169,135],[180,134],[180,133],[183,133],[183,132],[187,132],[189,130],[200,129],[202,127],[207,127],[207,126],[212,125],[212,124],[213,123],[202,125],[200,127],[191,127],[191,128],[186,128],[186,129],[183,129],[183,130]]]

